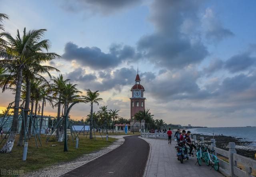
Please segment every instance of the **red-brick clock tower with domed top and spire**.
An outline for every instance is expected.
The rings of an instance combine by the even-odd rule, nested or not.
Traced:
[[[137,112],[139,112],[140,110],[144,110],[145,109],[145,100],[146,98],[144,98],[144,87],[142,85],[140,85],[140,76],[137,73],[136,75],[136,79],[135,79],[135,85],[132,87],[131,92],[132,92],[132,97],[130,98],[131,100],[131,131],[133,131],[134,128],[134,132],[139,132],[139,130],[144,131],[145,128],[145,122],[144,120],[142,120],[141,122],[141,127],[140,127],[140,122],[136,122],[135,118],[134,118],[134,114],[136,114]]]

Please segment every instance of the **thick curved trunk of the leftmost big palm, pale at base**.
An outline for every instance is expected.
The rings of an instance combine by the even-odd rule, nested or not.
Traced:
[[[17,79],[17,86],[16,86],[15,100],[14,100],[14,114],[13,114],[10,135],[8,137],[8,140],[4,144],[4,147],[1,149],[1,151],[5,153],[10,153],[12,151],[12,147],[15,141],[15,136],[17,133],[17,126],[18,126],[18,119],[19,119],[19,106],[20,106],[20,93],[21,93],[21,85],[22,85],[22,71],[23,71],[23,66],[21,66],[18,71],[18,79]]]

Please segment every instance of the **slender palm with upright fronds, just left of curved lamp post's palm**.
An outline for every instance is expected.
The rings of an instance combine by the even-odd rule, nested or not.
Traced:
[[[62,74],[60,74],[57,78],[53,77],[52,81],[53,84],[51,84],[52,90],[53,90],[53,94],[52,96],[54,96],[56,98],[56,100],[58,100],[57,105],[58,106],[58,112],[57,112],[57,122],[60,121],[60,108],[61,108],[61,94],[62,94],[62,90],[64,89],[66,83],[69,81],[70,79],[63,79]],[[56,136],[58,137],[60,134],[60,125],[57,127],[57,131],[56,131]]]

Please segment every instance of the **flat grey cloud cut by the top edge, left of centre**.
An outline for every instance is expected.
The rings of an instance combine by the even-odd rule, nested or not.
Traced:
[[[138,5],[142,0],[66,0],[62,7],[71,12],[113,14],[125,8]]]

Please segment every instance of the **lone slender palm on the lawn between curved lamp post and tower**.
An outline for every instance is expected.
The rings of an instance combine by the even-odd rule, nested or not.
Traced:
[[[90,89],[87,90],[86,92],[86,96],[82,96],[84,98],[84,102],[86,103],[90,103],[91,106],[91,121],[90,121],[90,139],[92,139],[92,114],[93,114],[93,104],[98,104],[99,105],[99,101],[102,100],[102,98],[98,98],[100,96],[100,94],[98,93],[99,90],[97,90],[96,92],[92,92]]]

